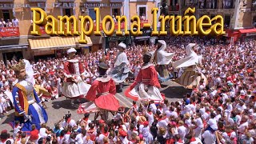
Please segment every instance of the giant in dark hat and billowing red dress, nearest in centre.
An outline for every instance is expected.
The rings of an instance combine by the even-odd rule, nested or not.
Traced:
[[[114,96],[116,94],[116,86],[114,80],[106,75],[106,70],[108,69],[109,66],[105,62],[99,63],[99,77],[94,80],[86,95],[86,100],[90,102],[80,105],[77,110],[78,114],[96,112],[95,119],[101,115],[103,120],[107,120],[109,111],[118,111],[119,102]]]

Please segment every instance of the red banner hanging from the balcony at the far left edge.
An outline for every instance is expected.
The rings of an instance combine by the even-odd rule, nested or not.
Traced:
[[[18,27],[1,27],[0,38],[4,37],[19,37]]]

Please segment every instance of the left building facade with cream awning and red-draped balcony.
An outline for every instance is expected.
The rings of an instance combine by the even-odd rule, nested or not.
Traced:
[[[50,37],[43,27],[41,36],[31,35],[31,7],[40,7],[46,11],[46,14],[53,15],[55,18],[60,15],[74,15],[76,18],[81,15],[90,15],[93,20],[96,18],[94,7],[100,7],[101,22],[106,15],[123,15],[124,13],[122,0],[1,0],[0,59],[6,60],[15,57],[33,59],[46,54],[56,56],[71,46],[87,52],[89,49],[86,48],[88,47],[91,50],[102,47],[102,39],[104,39],[102,37],[91,36],[91,38],[87,38],[89,39],[88,45],[81,45],[78,44],[79,37]]]

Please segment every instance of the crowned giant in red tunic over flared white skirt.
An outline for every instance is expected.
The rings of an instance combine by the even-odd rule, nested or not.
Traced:
[[[154,65],[150,63],[152,54],[147,52],[143,55],[143,65],[135,78],[135,82],[126,89],[125,95],[134,101],[162,102],[164,94],[160,93],[160,83],[158,82],[158,72]]]

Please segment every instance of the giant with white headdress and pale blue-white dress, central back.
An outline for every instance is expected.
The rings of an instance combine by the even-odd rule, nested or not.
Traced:
[[[123,42],[120,42],[118,44],[118,55],[116,56],[114,60],[114,68],[110,70],[109,75],[111,78],[113,78],[114,82],[119,84],[118,91],[122,91],[122,82],[128,78],[129,72],[130,72],[130,62],[128,61],[127,55],[124,52],[126,50],[126,44]]]

